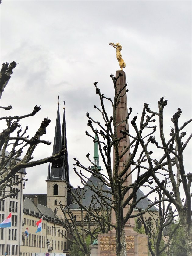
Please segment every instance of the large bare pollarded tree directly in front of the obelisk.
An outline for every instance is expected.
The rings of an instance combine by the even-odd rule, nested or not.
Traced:
[[[102,184],[110,188],[111,196],[106,196],[105,190],[102,190],[100,187],[95,186],[94,184],[90,184],[87,182],[89,179],[86,174],[82,171],[78,172],[76,168],[74,171],[80,177],[82,184],[89,187],[90,190],[94,191],[98,198],[101,198],[106,205],[112,208],[115,212],[115,223],[109,223],[106,219],[102,216],[95,215],[93,209],[89,209],[84,207],[82,202],[76,199],[76,202],[84,208],[89,214],[94,216],[95,218],[101,219],[102,221],[106,222],[116,231],[116,255],[117,256],[125,256],[126,255],[126,241],[125,241],[125,230],[124,227],[127,222],[130,221],[131,218],[138,217],[144,214],[151,206],[158,203],[155,201],[151,203],[146,209],[142,210],[141,212],[134,214],[134,208],[136,207],[137,203],[142,200],[143,198],[147,197],[152,192],[156,191],[159,187],[154,186],[152,187],[151,184],[153,183],[151,178],[151,171],[158,172],[162,168],[162,166],[166,166],[167,162],[162,158],[160,164],[155,164],[155,166],[151,165],[151,156],[152,151],[148,148],[150,147],[149,144],[151,142],[151,135],[155,133],[156,126],[150,126],[151,122],[155,122],[154,116],[155,113],[151,113],[151,116],[146,115],[146,108],[147,104],[144,104],[144,108],[142,111],[141,119],[139,122],[139,128],[137,128],[136,120],[137,116],[134,116],[131,120],[131,125],[135,129],[135,134],[130,134],[128,130],[128,119],[130,118],[132,109],[130,108],[130,112],[127,113],[123,120],[117,120],[118,116],[118,108],[122,104],[123,97],[126,97],[126,90],[127,84],[123,85],[123,88],[117,88],[118,79],[123,76],[122,73],[119,73],[118,77],[114,77],[111,75],[110,77],[113,80],[114,85],[114,99],[112,101],[111,98],[107,98],[100,92],[100,89],[97,87],[97,82],[94,83],[96,88],[96,94],[98,94],[101,102],[101,108],[94,106],[101,115],[102,115],[102,123],[99,121],[94,120],[92,117],[88,117],[88,126],[91,128],[94,136],[90,133],[86,132],[87,136],[91,137],[94,142],[98,142],[99,151],[102,157],[103,164],[105,166],[105,172],[101,172],[97,169],[97,164],[92,162],[89,158],[89,154],[87,154],[87,159],[89,162],[94,165],[94,170],[91,167],[85,167],[80,163],[79,160],[76,160],[76,166],[80,167],[81,169],[91,173],[92,175],[96,176],[98,180],[101,181]],[[105,109],[104,101],[109,101],[112,105],[112,115],[109,117],[107,111]],[[123,128],[119,131],[119,126],[123,124]],[[99,129],[95,129],[95,125],[99,127]],[[95,139],[96,136],[96,139]],[[124,140],[129,137],[131,140],[128,144],[124,144]],[[145,142],[144,142],[145,140]],[[141,145],[147,148],[145,151]],[[111,154],[114,152],[114,158],[112,161]],[[128,154],[129,153],[129,154]],[[119,163],[128,155],[126,161],[124,161],[123,166],[121,166],[121,170],[119,171]],[[149,156],[149,157],[148,157]],[[113,162],[113,166],[112,166]],[[130,170],[132,166],[132,170]],[[134,182],[131,180],[131,176],[134,174],[136,179]],[[128,180],[128,185],[126,181]],[[125,186],[126,184],[126,186]],[[150,191],[142,198],[137,198],[137,190],[142,187],[149,187]],[[167,201],[168,199],[161,199],[161,201]],[[124,212],[128,205],[127,211]],[[134,222],[134,221],[133,221]],[[131,225],[130,225],[131,226]]]

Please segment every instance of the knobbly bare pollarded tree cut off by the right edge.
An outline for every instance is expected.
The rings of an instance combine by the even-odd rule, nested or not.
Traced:
[[[152,165],[151,158],[148,154],[148,150],[145,147],[144,143],[141,142],[141,146],[145,151],[145,155],[148,159],[148,163],[150,164],[149,168],[151,170],[151,175],[155,180],[158,187],[161,188],[165,196],[169,199],[169,201],[176,207],[181,225],[183,226],[185,233],[185,241],[188,256],[192,255],[192,209],[191,209],[191,182],[192,182],[192,173],[186,172],[184,168],[183,162],[183,151],[189,143],[192,133],[188,136],[188,138],[183,142],[184,137],[187,132],[183,131],[186,128],[187,124],[189,124],[192,119],[186,121],[184,124],[179,126],[179,117],[182,113],[181,109],[178,108],[178,111],[173,115],[172,122],[174,128],[171,128],[170,136],[171,138],[166,141],[166,137],[164,134],[164,123],[163,123],[163,110],[167,105],[167,100],[164,101],[163,98],[158,101],[158,112],[151,111],[146,105],[146,111],[148,113],[152,113],[155,116],[158,116],[159,119],[159,133],[160,133],[160,142],[161,145],[156,141],[154,137],[150,138],[151,143],[155,144],[156,147],[162,150],[163,155],[162,158],[158,161],[156,159],[153,160],[155,166],[160,166],[160,168],[165,172],[166,176],[164,180],[159,179],[158,173],[155,172],[155,168]],[[137,128],[135,130],[138,132]],[[166,163],[166,165],[164,165]],[[170,187],[165,186],[167,180],[170,179]],[[183,193],[184,192],[184,193]]]

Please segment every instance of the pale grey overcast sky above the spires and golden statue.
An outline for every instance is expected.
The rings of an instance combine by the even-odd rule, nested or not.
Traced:
[[[191,118],[191,1],[2,0],[0,9],[1,63],[18,63],[1,99],[1,105],[11,104],[13,109],[1,110],[1,116],[27,114],[41,105],[40,112],[21,124],[23,130],[29,126],[33,136],[44,117],[51,119],[42,139],[52,145],[38,145],[34,152],[34,159],[44,158],[52,153],[58,91],[61,119],[65,96],[74,187],[80,182],[73,173],[73,157],[88,165],[85,154],[93,156],[94,144],[85,135],[89,131],[86,113],[101,118],[93,107],[99,103],[93,82],[98,81],[100,90],[113,97],[109,75],[115,75],[119,64],[109,42],[123,47],[132,116],[140,115],[144,102],[158,111],[158,100],[165,95],[168,129],[179,106],[180,124]],[[1,131],[4,128],[1,122]],[[191,168],[190,147],[185,163]],[[48,164],[26,169],[29,180],[24,193],[46,193],[47,170]]]

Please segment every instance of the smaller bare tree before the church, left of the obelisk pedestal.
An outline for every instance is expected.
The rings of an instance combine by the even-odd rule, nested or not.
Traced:
[[[75,194],[82,202],[86,192],[87,190],[77,188],[76,191],[71,193]],[[89,256],[90,249],[88,245],[91,244],[94,239],[97,239],[98,233],[108,233],[110,226],[100,221],[100,219],[96,219],[88,212],[85,212],[81,206],[76,204],[76,200],[72,200],[72,204],[75,205],[76,211],[80,213],[80,219],[76,219],[77,216],[74,214],[74,209],[70,208],[70,205],[68,207],[62,204],[60,204],[60,209],[63,212],[63,218],[61,217],[59,219],[56,215],[55,217],[59,219],[59,222],[67,230],[67,236],[65,236],[65,238],[69,243],[76,245],[83,255]],[[88,208],[92,208],[96,215],[102,215],[110,221],[111,211],[105,206],[103,201],[98,200],[98,198],[92,196]],[[87,240],[89,244],[87,244]]]

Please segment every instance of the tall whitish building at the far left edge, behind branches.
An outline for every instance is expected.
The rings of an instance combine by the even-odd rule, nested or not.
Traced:
[[[8,156],[9,152],[5,152]],[[18,161],[21,160],[18,158]],[[0,151],[1,161],[1,151]],[[23,218],[23,189],[25,188],[25,168],[21,169],[14,175],[10,181],[10,187],[5,188],[1,192],[1,197],[4,197],[6,192],[11,192],[13,188],[19,190],[15,196],[7,197],[0,201],[0,223],[12,213],[11,228],[0,228],[0,255],[20,255],[20,244],[22,243],[22,218]],[[21,181],[17,183],[17,181]]]

